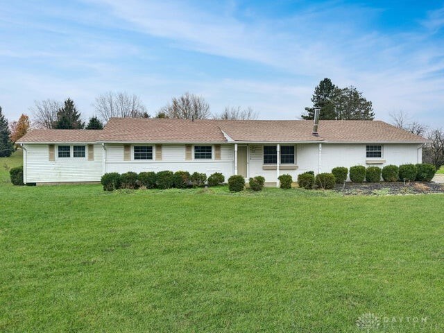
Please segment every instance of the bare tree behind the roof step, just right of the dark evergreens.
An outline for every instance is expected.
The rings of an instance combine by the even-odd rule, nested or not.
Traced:
[[[93,106],[103,121],[112,117],[149,117],[139,96],[126,92],[105,92],[96,97]]]

